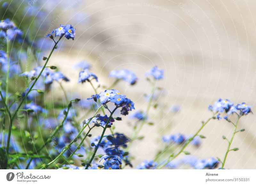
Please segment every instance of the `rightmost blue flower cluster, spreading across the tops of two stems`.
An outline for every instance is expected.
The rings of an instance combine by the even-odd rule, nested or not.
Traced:
[[[208,110],[210,110],[212,112],[224,112],[225,111],[227,113],[227,115],[224,116],[224,119],[227,119],[228,115],[233,114],[233,113],[236,113],[236,114],[239,113],[241,116],[247,115],[250,112],[252,112],[251,108],[252,108],[252,106],[247,105],[246,103],[234,105],[234,103],[231,102],[230,100],[228,100],[228,99],[222,100],[220,98],[213,105],[209,105]],[[221,119],[220,113],[217,114],[217,119]]]

